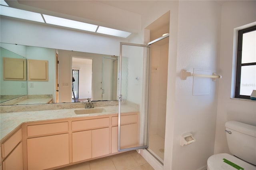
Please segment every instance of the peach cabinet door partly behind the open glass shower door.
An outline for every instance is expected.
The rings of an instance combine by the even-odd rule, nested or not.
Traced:
[[[130,125],[122,125],[120,138],[122,143],[120,148],[132,148],[138,144],[138,125],[137,123]],[[111,132],[111,152],[118,152],[118,127],[112,127]]]

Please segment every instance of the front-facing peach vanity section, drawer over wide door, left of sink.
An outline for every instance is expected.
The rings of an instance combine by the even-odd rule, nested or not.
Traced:
[[[69,164],[68,122],[30,125],[27,132],[28,170]]]

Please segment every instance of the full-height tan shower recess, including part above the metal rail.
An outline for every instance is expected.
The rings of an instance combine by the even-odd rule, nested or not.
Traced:
[[[150,31],[148,152],[164,164],[170,11],[147,28]],[[164,38],[168,35],[166,38]]]

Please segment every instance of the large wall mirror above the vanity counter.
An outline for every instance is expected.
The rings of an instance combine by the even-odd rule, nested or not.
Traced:
[[[118,99],[117,56],[8,43],[0,43],[0,46],[0,105],[41,104],[36,103],[37,98],[52,98],[49,103],[87,101],[87,98],[92,101]],[[26,64],[29,60],[47,61],[48,80],[4,80],[4,58],[26,59]],[[25,76],[27,75],[28,67]],[[26,99],[34,98],[31,99],[33,102],[16,102],[15,99],[21,96]]]

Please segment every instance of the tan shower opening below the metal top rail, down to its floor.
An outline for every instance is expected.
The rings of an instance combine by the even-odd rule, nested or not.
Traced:
[[[148,150],[164,162],[169,38],[152,45],[150,55]]]

